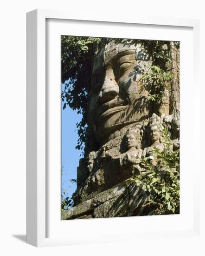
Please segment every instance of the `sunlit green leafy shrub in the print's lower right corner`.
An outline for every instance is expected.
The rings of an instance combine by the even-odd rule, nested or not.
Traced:
[[[132,178],[138,186],[150,195],[149,215],[179,213],[179,151],[173,151],[167,130],[163,133],[164,149],[154,148],[153,164],[148,157],[142,157],[143,171]]]

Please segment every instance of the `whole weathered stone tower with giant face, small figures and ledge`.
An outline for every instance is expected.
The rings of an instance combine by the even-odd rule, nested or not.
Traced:
[[[128,181],[141,172],[142,156],[154,164],[154,148],[163,150],[158,124],[168,129],[173,150],[179,149],[179,49],[167,42],[161,54],[171,61],[160,103],[147,100],[152,88],[142,74],[154,63],[154,56],[141,40],[109,40],[96,52],[91,76],[88,129],[97,141],[80,160],[77,190],[72,209],[63,219],[133,216],[148,214],[148,194]],[[122,185],[119,185],[122,184]]]

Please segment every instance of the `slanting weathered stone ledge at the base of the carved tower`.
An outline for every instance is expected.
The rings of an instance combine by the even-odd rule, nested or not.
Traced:
[[[149,195],[127,180],[93,198],[65,210],[62,220],[147,215]]]

